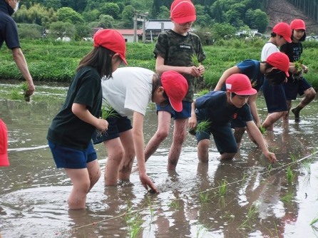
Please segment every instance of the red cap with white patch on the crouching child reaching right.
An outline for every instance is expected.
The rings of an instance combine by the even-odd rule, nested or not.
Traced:
[[[257,90],[252,88],[250,78],[242,73],[233,73],[225,81],[226,90],[237,95],[253,95]]]

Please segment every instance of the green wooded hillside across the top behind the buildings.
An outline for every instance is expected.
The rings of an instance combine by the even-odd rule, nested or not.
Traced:
[[[317,14],[309,5],[318,0],[193,0],[197,21],[193,27],[209,32],[206,42],[234,36],[239,30],[257,29],[268,33],[279,21],[300,17],[308,32],[316,33],[317,22],[307,15]],[[21,38],[52,37],[81,40],[91,36],[93,28],[133,29],[136,12],[148,19],[168,19],[172,0],[24,0],[14,19]],[[301,3],[300,3],[301,2]],[[292,4],[295,4],[293,6]],[[202,36],[206,37],[206,36]]]

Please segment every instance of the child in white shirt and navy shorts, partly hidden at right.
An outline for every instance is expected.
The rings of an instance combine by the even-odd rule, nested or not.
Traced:
[[[268,56],[274,52],[279,52],[280,46],[286,42],[291,42],[290,35],[292,30],[290,26],[285,22],[279,22],[276,24],[270,36],[270,40],[265,43],[262,48],[261,60],[266,61]],[[274,123],[283,118],[287,114],[287,104],[286,96],[284,94],[284,88],[281,83],[273,84],[267,81],[265,76],[265,81],[262,86],[263,95],[267,105],[267,118],[262,123],[262,127],[267,130],[273,130]]]

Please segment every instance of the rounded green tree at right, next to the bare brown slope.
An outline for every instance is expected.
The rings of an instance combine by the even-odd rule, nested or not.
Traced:
[[[248,9],[245,19],[250,29],[258,29],[260,32],[265,32],[269,23],[267,14],[260,9]]]

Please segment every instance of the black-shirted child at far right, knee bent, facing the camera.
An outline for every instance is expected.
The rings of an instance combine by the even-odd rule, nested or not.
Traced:
[[[302,19],[294,19],[290,23],[290,28],[292,29],[292,42],[285,43],[280,47],[280,51],[287,54],[289,61],[294,63],[300,60],[302,56],[302,41],[306,39],[306,25]],[[287,99],[288,114],[284,119],[288,120],[289,110],[292,108],[292,100],[297,98],[297,94],[304,95],[297,107],[292,108],[292,113],[294,113],[295,122],[299,122],[299,112],[308,105],[314,97],[316,96],[316,91],[310,83],[303,77],[303,73],[307,73],[307,66],[302,65],[302,71],[294,72],[291,76],[287,78],[287,83],[284,83],[284,92]]]

